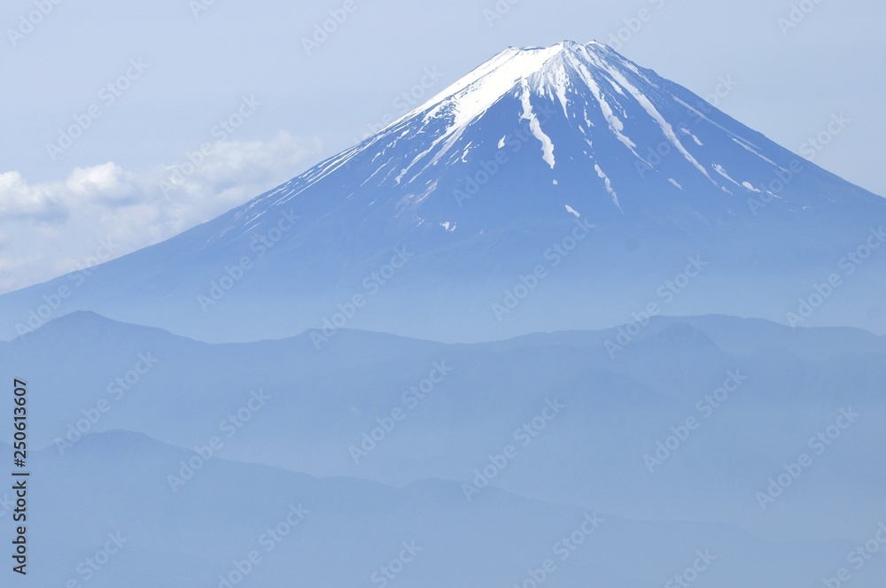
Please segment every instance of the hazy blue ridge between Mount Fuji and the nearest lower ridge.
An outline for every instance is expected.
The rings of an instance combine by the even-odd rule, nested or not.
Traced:
[[[879,454],[864,450],[886,443],[882,339],[661,317],[610,357],[621,329],[491,344],[345,329],[315,350],[311,333],[206,344],[71,313],[0,343],[0,378],[27,380],[28,438],[61,458],[91,433],[125,429],[191,450],[219,437],[224,459],[402,486],[468,481],[510,444],[517,459],[490,485],[533,499],[774,538],[867,530],[886,484]],[[738,390],[707,400],[730,374]],[[756,492],[844,407],[857,422],[761,510]],[[644,456],[690,416],[699,428],[650,468]],[[532,435],[517,433],[526,423]]]

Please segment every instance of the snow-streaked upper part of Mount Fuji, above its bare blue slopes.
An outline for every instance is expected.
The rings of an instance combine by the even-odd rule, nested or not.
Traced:
[[[288,201],[343,166],[360,167],[361,182],[344,195],[385,186],[398,192],[392,198],[402,211],[430,205],[439,200],[428,200],[433,193],[465,173],[490,160],[516,159],[516,150],[529,147],[523,151],[534,152],[534,161],[519,159],[539,195],[551,186],[595,193],[619,214],[644,205],[637,198],[650,193],[726,195],[732,198],[719,201],[719,213],[734,214],[747,197],[776,196],[766,185],[789,169],[791,155],[766,143],[607,45],[563,41],[501,51],[377,135],[300,176],[279,197]],[[416,213],[416,222],[422,218]]]

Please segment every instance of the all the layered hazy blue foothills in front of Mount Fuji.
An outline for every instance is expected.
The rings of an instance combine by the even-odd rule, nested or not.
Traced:
[[[883,337],[657,318],[612,358],[618,332],[451,345],[342,330],[316,350],[311,333],[205,344],[95,313],[51,321],[0,344],[4,377],[29,375],[44,447],[32,549],[54,564],[31,579],[83,582],[119,532],[89,585],[224,585],[253,550],[243,585],[382,585],[372,574],[413,541],[390,585],[521,585],[547,558],[550,585],[665,584],[696,552],[717,558],[710,585],[814,585],[873,536]],[[855,416],[819,453],[811,437],[841,410]],[[761,507],[801,452],[812,465]],[[291,507],[309,512],[268,543]],[[586,515],[598,529],[581,531]],[[884,571],[872,559],[853,585]]]

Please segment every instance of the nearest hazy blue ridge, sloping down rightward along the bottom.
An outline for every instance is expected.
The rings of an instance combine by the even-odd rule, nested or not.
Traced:
[[[125,431],[89,435],[64,457],[33,453],[29,505],[40,514],[28,528],[27,578],[15,579],[97,588],[482,588],[543,574],[555,588],[589,576],[640,588],[698,561],[705,581],[738,588],[811,585],[833,553],[851,549],[847,541],[765,541],[722,524],[628,520],[497,490],[468,501],[459,484],[442,480],[394,488],[221,457],[171,491],[167,476],[189,458]],[[11,530],[0,530],[6,545]],[[871,562],[853,585],[881,585],[878,573],[882,563]]]

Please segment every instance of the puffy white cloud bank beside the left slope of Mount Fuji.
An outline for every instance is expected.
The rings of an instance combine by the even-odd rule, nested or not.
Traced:
[[[198,166],[183,158],[136,173],[109,161],[42,183],[0,173],[0,292],[74,271],[103,242],[119,257],[209,221],[299,174],[320,150],[280,133],[214,143]]]

